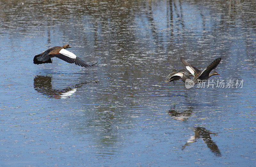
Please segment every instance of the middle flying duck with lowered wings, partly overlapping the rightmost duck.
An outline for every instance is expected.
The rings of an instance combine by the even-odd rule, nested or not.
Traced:
[[[181,79],[184,83],[186,79],[190,79],[190,76],[193,76],[192,74],[188,73],[185,69],[182,69],[180,71],[177,71],[174,69],[165,79],[164,82],[173,82],[175,84],[175,81],[178,81]]]

